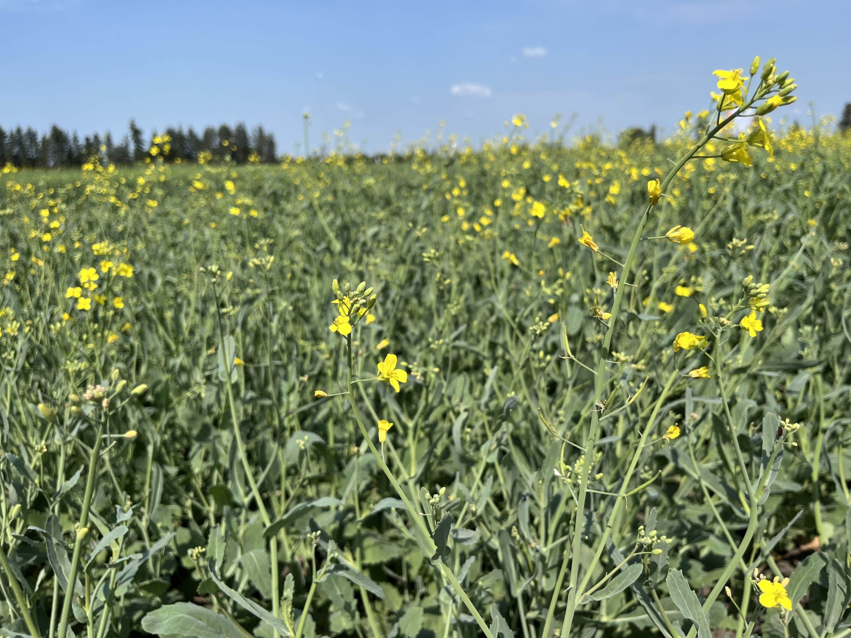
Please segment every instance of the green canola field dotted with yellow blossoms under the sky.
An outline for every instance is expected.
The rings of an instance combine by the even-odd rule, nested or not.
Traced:
[[[3,169],[0,635],[851,635],[851,138],[748,75],[659,144]]]

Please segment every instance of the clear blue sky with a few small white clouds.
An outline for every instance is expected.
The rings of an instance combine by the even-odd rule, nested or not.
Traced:
[[[716,68],[774,55],[787,116],[851,101],[848,0],[98,2],[0,0],[0,125],[80,134],[262,123],[281,152],[346,119],[386,150],[438,122],[478,144],[514,112],[531,131],[671,127],[708,105]],[[333,136],[332,136],[333,137]]]

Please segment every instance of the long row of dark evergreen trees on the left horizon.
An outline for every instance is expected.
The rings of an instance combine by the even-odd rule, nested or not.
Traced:
[[[154,140],[168,137],[168,144],[155,146]],[[39,135],[31,127],[0,127],[0,167],[7,163],[18,168],[58,168],[80,166],[93,158],[102,162],[131,164],[144,162],[146,157],[162,157],[166,162],[196,162],[199,154],[208,162],[230,160],[243,164],[252,162],[277,162],[275,136],[262,126],[250,133],[242,122],[231,128],[222,124],[219,128],[207,127],[202,134],[194,128],[168,127],[149,138],[134,120],[120,140],[115,140],[107,131],[87,135],[82,140],[73,131],[70,134],[55,124],[47,133]]]

